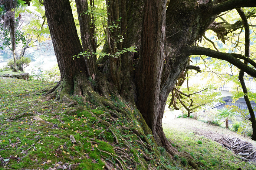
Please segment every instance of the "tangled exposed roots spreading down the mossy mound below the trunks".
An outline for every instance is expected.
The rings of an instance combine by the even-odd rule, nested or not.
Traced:
[[[84,83],[84,85],[82,85]],[[100,107],[102,110],[105,111],[105,114],[96,116],[94,113],[92,113],[90,110],[87,110],[91,113],[93,117],[97,119],[95,126],[98,126],[100,124],[105,125],[107,130],[112,133],[114,137],[114,141],[116,145],[120,145],[119,140],[123,143],[122,145],[127,148],[126,150],[121,149],[120,147],[114,147],[115,153],[109,153],[104,150],[99,150],[98,147],[96,147],[100,152],[107,153],[109,156],[112,156],[113,159],[117,162],[115,164],[114,162],[110,162],[108,159],[108,163],[112,164],[113,167],[116,167],[116,169],[126,170],[135,168],[137,169],[138,166],[142,169],[156,169],[155,166],[150,166],[147,164],[148,161],[155,161],[160,159],[160,152],[158,152],[156,142],[154,140],[154,137],[148,137],[147,135],[152,134],[151,130],[148,128],[147,124],[145,123],[145,120],[142,118],[142,115],[138,110],[131,109],[131,106],[127,106],[124,108],[118,108],[116,106],[116,103],[114,101],[111,101],[109,98],[104,98],[100,96],[98,93],[93,91],[91,86],[88,84],[87,81],[78,81],[76,79],[74,85],[67,85],[68,83],[66,81],[59,83],[54,87],[54,91],[51,90],[51,93],[47,92],[45,96],[40,98],[42,101],[50,100],[56,97],[56,99],[63,101],[65,103],[69,103],[69,106],[75,106],[76,109],[73,112],[76,112],[76,110],[79,109],[85,109],[84,107],[81,107],[82,104],[86,103],[96,103],[98,107]],[[74,91],[72,92],[72,89]],[[78,101],[75,101],[72,96],[79,97],[81,100],[78,104]],[[113,95],[113,94],[112,94]],[[108,96],[109,97],[109,96]],[[121,101],[121,98],[120,98]],[[132,105],[132,104],[131,104]],[[133,110],[136,110],[134,112]],[[135,118],[136,116],[136,118]],[[117,133],[116,126],[119,124],[117,120],[122,119],[125,117],[125,120],[132,126],[119,126],[120,131]],[[103,118],[105,120],[103,120]],[[139,126],[140,125],[140,126]],[[138,145],[140,145],[140,148],[142,149],[135,149],[133,147],[133,143],[130,141],[127,141],[120,135],[120,133],[126,133],[129,131],[132,132],[137,137],[134,142],[137,142]],[[105,131],[101,132],[104,133]],[[159,136],[160,139],[161,136]],[[165,138],[166,139],[166,138]],[[167,140],[167,139],[166,139]],[[93,141],[88,141],[91,143],[94,143]],[[175,148],[173,149],[173,146],[170,144],[170,142],[167,140],[167,144],[165,145],[165,149],[171,153],[171,155],[177,154],[180,155],[188,160],[188,163],[190,166],[192,166],[194,169],[198,169],[197,164],[193,162],[193,157],[190,156],[188,153],[179,153]],[[97,144],[98,145],[98,144]],[[154,148],[152,147],[154,145]],[[161,146],[161,145],[160,145]],[[169,146],[169,147],[168,147]],[[149,155],[147,152],[144,152],[146,150],[147,152],[150,152],[151,155]],[[132,152],[131,152],[132,151]],[[138,154],[138,152],[141,153],[141,155]],[[133,153],[133,154],[131,154]],[[81,157],[85,157],[82,154],[78,154]],[[152,157],[153,155],[153,157]],[[169,157],[171,159],[170,154],[165,154],[165,156]],[[104,156],[101,156],[103,160],[107,160]],[[134,158],[133,158],[134,157]],[[125,160],[128,160],[129,165],[125,163]],[[136,161],[135,161],[136,160]],[[104,161],[102,161],[104,162]],[[108,165],[106,161],[104,162],[106,169],[112,169],[110,164]],[[131,167],[130,167],[131,166]],[[160,163],[161,168],[160,169],[168,169],[165,164]]]

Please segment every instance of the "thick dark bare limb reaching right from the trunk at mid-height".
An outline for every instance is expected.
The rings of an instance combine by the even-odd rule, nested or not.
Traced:
[[[242,61],[240,61],[238,59],[238,58],[244,59],[245,61],[252,64],[253,67],[255,67],[256,63],[252,59],[250,59],[244,55],[235,54],[235,53],[229,54],[229,53],[225,53],[225,52],[218,52],[215,50],[211,50],[209,48],[197,47],[197,46],[193,46],[193,45],[187,45],[186,47],[183,47],[183,52],[188,53],[189,55],[206,55],[209,57],[228,61],[228,62],[230,62],[230,64],[235,65],[237,68],[243,70],[247,74],[249,74],[253,77],[256,77],[256,70],[249,67],[248,65],[244,64]]]

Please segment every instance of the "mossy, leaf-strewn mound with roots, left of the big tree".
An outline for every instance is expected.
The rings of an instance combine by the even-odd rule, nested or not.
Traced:
[[[0,78],[1,170],[175,168],[166,154],[144,142],[145,137],[151,141],[150,135],[135,133],[141,131],[135,120],[120,113],[112,117],[91,103],[74,108],[54,99],[38,100],[54,85]],[[138,117],[134,110],[131,114]]]

